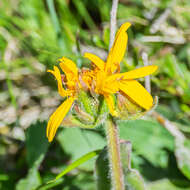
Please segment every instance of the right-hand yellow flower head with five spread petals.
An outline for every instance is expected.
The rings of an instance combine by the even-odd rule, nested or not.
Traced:
[[[153,106],[152,96],[135,79],[152,74],[157,70],[157,66],[151,65],[129,72],[119,73],[120,62],[123,59],[127,47],[128,35],[126,31],[130,25],[128,22],[124,23],[118,30],[106,62],[94,54],[84,54],[84,57],[88,58],[95,65],[92,82],[94,91],[105,97],[110,113],[113,116],[117,116],[113,99],[113,94],[117,92],[124,94],[127,98],[146,110],[149,110]]]

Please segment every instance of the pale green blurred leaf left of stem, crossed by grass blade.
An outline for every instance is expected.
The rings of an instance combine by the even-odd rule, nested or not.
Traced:
[[[105,139],[98,133],[91,130],[81,130],[79,128],[64,129],[63,132],[58,135],[58,141],[63,150],[71,155],[72,161],[75,161],[88,152],[101,149],[106,144]],[[89,160],[82,164],[80,168],[92,170],[94,161],[94,159]]]

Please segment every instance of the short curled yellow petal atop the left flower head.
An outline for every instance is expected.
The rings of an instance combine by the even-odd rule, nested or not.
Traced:
[[[72,80],[73,77],[74,78],[78,77],[77,66],[72,60],[66,57],[62,57],[59,61],[60,61],[60,67],[62,71],[65,73],[67,80]]]

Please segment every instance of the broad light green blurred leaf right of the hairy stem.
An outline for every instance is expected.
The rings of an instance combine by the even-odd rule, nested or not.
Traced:
[[[118,125],[120,138],[130,140],[138,155],[155,166],[167,166],[166,149],[174,150],[174,139],[166,129],[155,121],[146,120],[120,122]]]

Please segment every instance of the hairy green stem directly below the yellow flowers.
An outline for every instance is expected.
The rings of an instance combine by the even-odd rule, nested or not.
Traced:
[[[107,147],[113,190],[124,190],[124,177],[120,158],[118,128],[112,118],[106,121]]]

